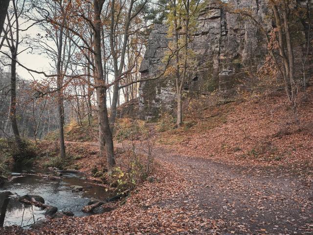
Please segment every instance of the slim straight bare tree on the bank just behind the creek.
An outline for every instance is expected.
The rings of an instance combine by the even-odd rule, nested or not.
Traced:
[[[41,4],[40,4],[41,3]],[[59,117],[59,145],[60,156],[66,157],[65,140],[64,140],[64,74],[67,72],[70,58],[74,53],[72,37],[66,28],[66,19],[69,10],[67,1],[37,1],[33,0],[33,6],[36,10],[33,21],[39,22],[41,28],[45,31],[45,37],[38,35],[33,39],[34,47],[45,53],[53,62],[53,68],[56,71],[56,93],[57,109]],[[60,17],[61,16],[61,17]],[[56,27],[56,23],[58,26]]]

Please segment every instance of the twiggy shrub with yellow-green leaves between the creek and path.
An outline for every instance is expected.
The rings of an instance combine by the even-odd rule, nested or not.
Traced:
[[[110,175],[110,183],[119,192],[134,188],[152,171],[154,139],[151,139],[148,127],[143,121],[128,118],[119,120],[115,127],[115,138],[122,143],[123,152],[116,159],[117,166]]]

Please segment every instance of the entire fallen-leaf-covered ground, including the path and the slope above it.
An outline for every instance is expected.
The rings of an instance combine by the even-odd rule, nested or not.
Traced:
[[[115,210],[5,233],[313,234],[312,98],[299,107],[300,125],[282,96],[190,114],[188,128],[153,132],[154,181],[138,185]],[[83,156],[75,160],[81,170],[103,164],[96,142],[67,146]]]

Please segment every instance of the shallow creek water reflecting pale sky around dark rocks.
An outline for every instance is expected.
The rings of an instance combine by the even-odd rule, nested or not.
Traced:
[[[0,186],[0,226],[18,225],[27,228],[45,217],[45,211],[40,208],[14,199],[17,195],[42,196],[45,204],[57,207],[59,211],[72,211],[74,216],[90,214],[81,211],[90,198],[105,200],[112,196],[112,192],[106,191],[104,187],[91,184],[82,173],[64,173],[61,179],[48,179],[35,174],[38,172],[28,170],[25,175],[13,172],[13,179]],[[71,185],[82,186],[83,191],[73,191]]]

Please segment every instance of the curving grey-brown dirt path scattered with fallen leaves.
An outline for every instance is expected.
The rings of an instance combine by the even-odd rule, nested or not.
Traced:
[[[203,216],[224,221],[224,234],[313,234],[313,187],[298,176],[180,157],[162,148],[156,158],[175,164],[193,185],[180,201],[165,203],[199,207]]]

